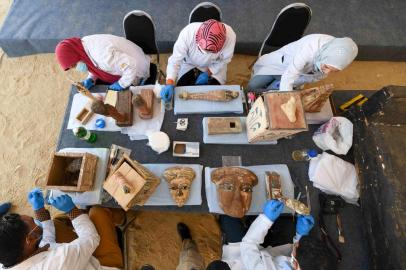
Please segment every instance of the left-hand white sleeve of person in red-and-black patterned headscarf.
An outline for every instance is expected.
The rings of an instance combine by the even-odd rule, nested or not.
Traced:
[[[182,61],[187,57],[189,51],[188,35],[190,35],[187,26],[180,32],[178,39],[173,46],[173,53],[168,58],[166,67],[166,79],[176,81]]]

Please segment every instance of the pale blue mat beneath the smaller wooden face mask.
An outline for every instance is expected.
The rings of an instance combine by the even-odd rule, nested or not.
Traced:
[[[199,164],[143,164],[153,174],[161,179],[161,183],[156,188],[155,192],[149,197],[145,205],[176,205],[169,192],[169,186],[163,173],[167,168],[175,166],[185,166],[192,168],[196,173],[196,178],[192,182],[190,188],[189,199],[185,205],[201,205],[202,204],[202,171],[203,166]]]

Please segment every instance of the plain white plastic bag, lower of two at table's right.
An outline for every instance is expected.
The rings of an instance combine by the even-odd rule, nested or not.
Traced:
[[[358,176],[353,164],[324,152],[310,160],[309,179],[321,191],[357,204]]]

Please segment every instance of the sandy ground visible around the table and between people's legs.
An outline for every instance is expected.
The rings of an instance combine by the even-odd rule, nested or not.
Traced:
[[[10,3],[11,0],[0,1],[0,25]],[[166,63],[167,55],[161,59]],[[228,83],[246,85],[250,77],[247,67],[253,60],[253,56],[236,55],[229,65]],[[83,75],[72,74],[72,77],[79,80]],[[43,185],[70,83],[53,54],[9,58],[1,50],[0,78],[0,202],[11,201],[13,211],[31,214],[26,194],[36,181]],[[406,85],[406,63],[355,62],[323,81],[327,82],[334,83],[336,89],[367,90],[390,84]],[[206,260],[216,254],[219,232],[209,215],[188,217],[142,212],[137,216],[132,229],[143,233],[133,234],[136,265],[149,262],[157,269],[172,269],[167,268],[166,262],[171,266],[177,262],[180,241],[175,225],[178,220],[190,225]],[[155,233],[157,231],[159,234]]]

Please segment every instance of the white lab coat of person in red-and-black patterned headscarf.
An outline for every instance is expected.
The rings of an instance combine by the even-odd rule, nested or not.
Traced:
[[[193,68],[205,72],[210,69],[212,77],[225,84],[227,80],[227,64],[234,54],[236,35],[233,29],[226,27],[226,41],[218,53],[202,53],[196,43],[196,32],[202,23],[191,23],[179,34],[173,47],[173,53],[168,59],[166,79],[174,82]]]

